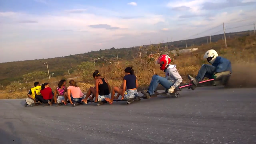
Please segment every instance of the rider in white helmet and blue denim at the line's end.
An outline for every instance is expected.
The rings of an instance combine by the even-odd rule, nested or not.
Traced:
[[[188,78],[190,80],[193,80],[192,82],[195,85],[198,85],[198,83],[201,82],[204,77],[211,79],[212,76],[216,73],[220,73],[224,71],[232,72],[231,62],[224,57],[218,56],[217,52],[213,49],[210,49],[209,51],[207,51],[204,54],[203,58],[207,59],[207,62],[211,63],[212,66],[209,64],[203,64],[195,78],[188,75]]]

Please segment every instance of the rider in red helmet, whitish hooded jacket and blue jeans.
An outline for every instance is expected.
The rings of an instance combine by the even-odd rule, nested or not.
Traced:
[[[153,75],[148,90],[141,91],[146,95],[147,99],[156,96],[154,94],[158,84],[162,85],[167,89],[167,92],[172,93],[174,89],[179,86],[182,82],[182,77],[176,69],[176,65],[170,64],[171,58],[168,55],[161,55],[157,60],[156,64],[160,64],[160,70],[165,72],[166,77],[159,75]]]

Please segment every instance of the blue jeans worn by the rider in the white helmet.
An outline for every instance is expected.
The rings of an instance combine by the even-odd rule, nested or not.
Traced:
[[[215,71],[215,67],[211,66],[210,64],[203,64],[200,70],[198,71],[198,74],[196,76],[196,79],[201,82],[204,77],[212,78],[212,75]]]

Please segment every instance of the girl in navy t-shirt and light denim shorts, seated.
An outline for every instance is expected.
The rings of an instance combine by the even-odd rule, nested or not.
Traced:
[[[132,67],[127,67],[125,69],[124,83],[122,84],[122,88],[114,86],[111,92],[111,99],[105,98],[110,104],[113,103],[114,98],[118,99],[119,95],[122,96],[123,99],[131,99],[134,97],[138,97],[139,93],[137,91],[138,81],[136,76],[134,75],[134,70]],[[127,88],[126,88],[127,87]],[[127,91],[125,91],[127,89]],[[115,97],[115,93],[117,92],[117,97]]]

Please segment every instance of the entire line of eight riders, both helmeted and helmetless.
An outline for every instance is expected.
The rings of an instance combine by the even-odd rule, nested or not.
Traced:
[[[196,78],[188,75],[188,78],[193,80],[195,85],[202,81],[203,77],[211,78],[215,73],[227,70],[231,72],[230,61],[223,57],[219,57],[217,52],[213,49],[207,51],[204,58],[207,59],[208,63],[211,63],[212,66],[203,64]],[[157,59],[156,64],[160,65],[160,70],[165,72],[166,77],[161,77],[156,74],[153,75],[149,88],[145,91],[141,91],[147,98],[156,95],[154,92],[158,84],[165,87],[166,91],[169,93],[173,93],[174,89],[181,84],[182,77],[177,71],[176,65],[170,64],[170,62],[171,58],[168,55],[161,55]],[[118,99],[120,95],[122,96],[121,100],[137,97],[139,95],[137,91],[138,81],[136,75],[134,75],[134,70],[132,67],[127,67],[124,71],[125,76],[123,84],[120,87],[114,86],[111,90],[108,80],[101,77],[100,72],[96,70],[93,73],[95,87],[90,87],[85,97],[74,80],[69,81],[69,87],[66,86],[66,80],[61,80],[54,92],[48,83],[44,83],[40,86],[39,82],[35,82],[35,87],[31,88],[28,92],[26,103],[31,105],[32,103],[39,101],[40,103],[48,103],[49,105],[52,105],[53,102],[55,102],[55,104],[64,103],[66,105],[68,101],[71,104],[83,101],[87,104],[88,98],[90,101],[93,101],[95,98],[95,102],[107,101],[112,104],[114,99]],[[115,96],[115,93],[117,93],[117,96]],[[91,94],[92,96],[90,97]]]

